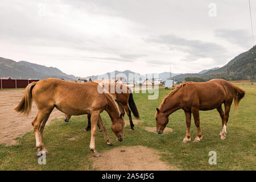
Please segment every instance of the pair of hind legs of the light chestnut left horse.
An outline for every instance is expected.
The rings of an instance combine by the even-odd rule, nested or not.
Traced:
[[[38,115],[36,115],[36,118],[34,119],[34,121],[32,121],[32,126],[34,127],[35,131],[36,148],[38,148],[36,155],[38,155],[39,151],[48,154],[48,151],[44,147],[43,143],[43,130],[49,118],[49,115],[52,112],[52,109],[49,109],[47,111],[38,110]]]

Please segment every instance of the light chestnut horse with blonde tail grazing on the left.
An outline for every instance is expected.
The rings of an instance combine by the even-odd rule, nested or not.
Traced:
[[[101,93],[99,93],[99,90]],[[97,123],[103,131],[107,144],[112,145],[105,131],[100,113],[106,110],[112,120],[112,131],[121,142],[123,139],[123,117],[115,105],[114,98],[93,82],[75,83],[55,78],[47,78],[39,82],[32,82],[25,89],[24,96],[15,110],[19,113],[30,114],[32,100],[38,107],[38,115],[32,121],[35,131],[36,147],[46,154],[48,151],[43,143],[43,130],[47,119],[54,107],[70,115],[90,114],[92,117],[92,133],[90,150],[94,156],[100,154],[95,149]],[[37,152],[37,154],[38,154]]]

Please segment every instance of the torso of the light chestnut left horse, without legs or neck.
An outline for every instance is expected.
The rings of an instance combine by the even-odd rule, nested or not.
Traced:
[[[93,82],[84,84],[47,78],[35,85],[32,94],[39,107],[55,106],[63,113],[80,115],[105,109],[105,95],[98,89],[101,88]]]

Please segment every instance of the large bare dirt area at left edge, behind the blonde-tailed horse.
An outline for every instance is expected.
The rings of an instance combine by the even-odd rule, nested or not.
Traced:
[[[7,146],[17,144],[17,137],[22,137],[28,131],[33,130],[31,122],[38,114],[35,103],[32,104],[32,110],[29,117],[19,115],[14,107],[19,104],[22,99],[24,90],[1,90],[0,91],[0,144],[6,143]],[[47,125],[54,118],[64,118],[64,114],[57,109],[53,109]]]

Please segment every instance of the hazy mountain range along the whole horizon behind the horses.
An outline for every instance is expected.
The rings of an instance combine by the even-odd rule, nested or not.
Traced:
[[[243,52],[240,55],[230,60],[228,64],[221,68],[204,69],[199,73],[171,73],[172,78],[176,81],[184,81],[186,77],[199,77],[202,80],[208,81],[212,78],[224,78],[225,80],[254,80],[256,79],[256,46],[251,48],[249,51]],[[46,67],[44,65],[34,64],[27,61],[14,61],[0,57],[0,77],[11,77],[11,78],[61,78],[64,80],[75,80],[80,77],[74,75],[67,75],[60,71],[60,69],[53,67]],[[106,79],[113,77],[126,77],[129,78],[127,81],[144,80],[146,78],[154,78],[154,73],[141,75],[139,73],[126,71],[113,71],[105,73],[103,75],[92,75],[86,78],[95,79]],[[167,80],[170,78],[170,72],[163,72],[158,74],[158,78]]]

